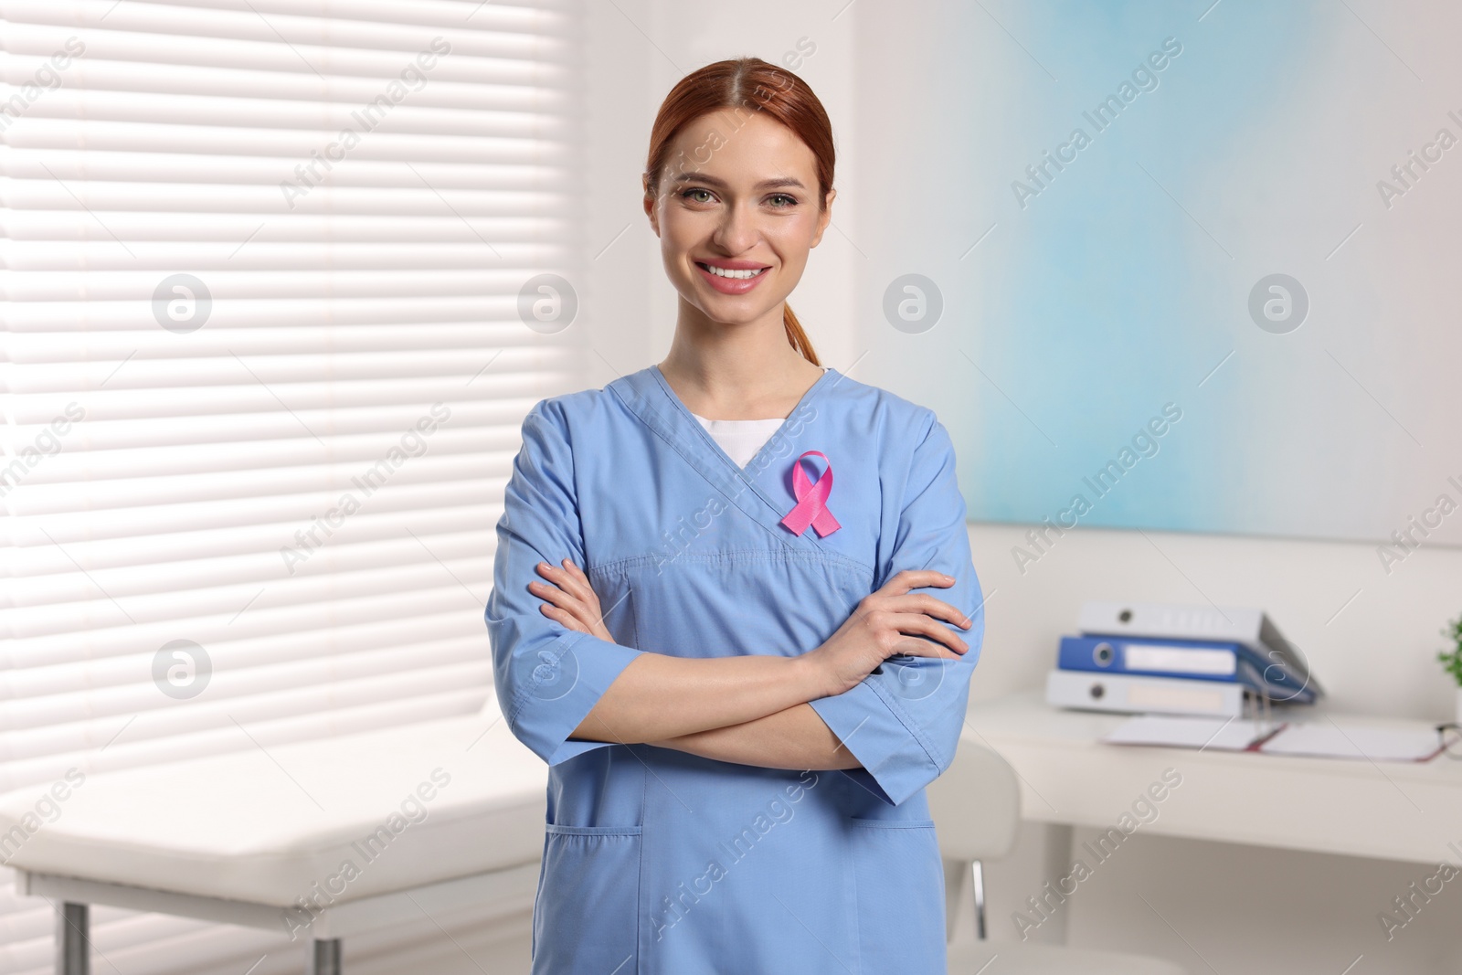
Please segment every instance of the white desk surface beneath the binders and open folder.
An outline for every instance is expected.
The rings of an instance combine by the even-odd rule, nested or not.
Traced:
[[[1323,721],[1325,713],[1306,707],[1279,716]],[[1023,691],[972,703],[963,734],[1015,767],[1028,820],[1116,827],[1152,784],[1161,784],[1165,769],[1175,769],[1181,784],[1154,804],[1156,819],[1146,813],[1151,822],[1136,832],[1430,864],[1462,861],[1462,762],[1443,754],[1423,763],[1371,763],[1099,741],[1126,719],[1060,710],[1047,706],[1041,691]]]

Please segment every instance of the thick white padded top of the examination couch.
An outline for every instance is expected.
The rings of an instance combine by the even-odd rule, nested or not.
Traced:
[[[0,842],[35,873],[327,905],[538,861],[547,778],[487,709],[88,775],[29,835],[45,788],[16,789],[0,795]]]

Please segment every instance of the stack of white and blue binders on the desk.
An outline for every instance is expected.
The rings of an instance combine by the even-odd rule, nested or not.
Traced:
[[[1241,718],[1323,693],[1260,610],[1088,602],[1079,629],[1045,683],[1057,707]]]

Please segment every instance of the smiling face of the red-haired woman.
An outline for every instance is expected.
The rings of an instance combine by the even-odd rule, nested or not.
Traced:
[[[813,151],[756,111],[719,111],[687,124],[645,212],[665,273],[684,303],[712,322],[775,316],[803,276],[807,251],[832,218],[819,206]]]

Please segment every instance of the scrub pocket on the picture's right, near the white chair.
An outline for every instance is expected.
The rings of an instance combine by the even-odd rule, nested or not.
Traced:
[[[944,975],[944,865],[934,820],[849,823],[860,971]]]

